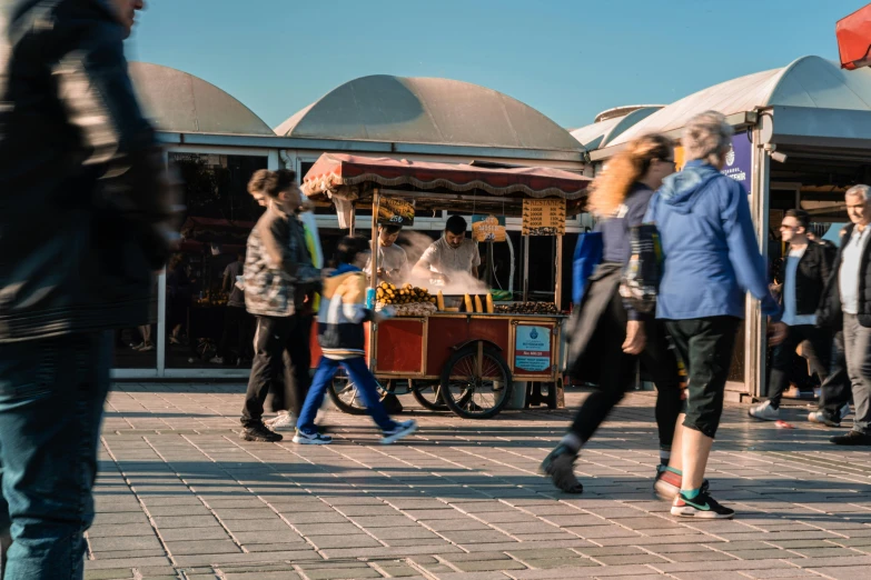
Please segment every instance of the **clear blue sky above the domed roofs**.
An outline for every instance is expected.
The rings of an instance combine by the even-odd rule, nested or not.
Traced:
[[[862,0],[150,0],[128,58],[226,90],[275,127],[366,74],[502,91],[564,127],[819,54]]]

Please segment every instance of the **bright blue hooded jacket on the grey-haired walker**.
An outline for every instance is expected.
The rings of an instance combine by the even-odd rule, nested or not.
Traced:
[[[644,221],[656,223],[664,256],[656,318],[744,318],[745,292],[779,317],[741,183],[690,161],[665,178]]]

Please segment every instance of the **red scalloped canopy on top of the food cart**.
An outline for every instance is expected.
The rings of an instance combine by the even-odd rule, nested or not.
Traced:
[[[340,187],[369,182],[382,187],[481,190],[503,197],[521,194],[574,200],[583,197],[591,181],[591,178],[577,173],[543,167],[485,168],[324,153],[306,173],[303,188],[310,198],[326,196]]]

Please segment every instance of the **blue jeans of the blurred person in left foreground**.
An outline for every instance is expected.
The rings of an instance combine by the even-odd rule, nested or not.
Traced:
[[[112,338],[0,344],[3,578],[80,579]]]

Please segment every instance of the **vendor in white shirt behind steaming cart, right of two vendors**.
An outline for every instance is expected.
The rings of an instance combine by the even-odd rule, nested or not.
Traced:
[[[466,220],[462,216],[451,216],[444,234],[426,249],[414,269],[417,276],[449,282],[457,272],[477,279],[479,266],[478,244],[466,238]]]

